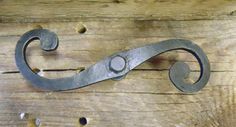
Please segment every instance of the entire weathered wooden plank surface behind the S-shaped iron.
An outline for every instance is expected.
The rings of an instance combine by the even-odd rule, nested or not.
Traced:
[[[81,26],[84,26],[87,31]],[[46,53],[30,44],[32,68],[50,78],[70,76],[112,53],[171,38],[189,39],[206,52],[211,78],[200,92],[184,94],[170,82],[175,61],[199,66],[190,54],[173,51],[145,62],[121,81],[104,81],[65,92],[33,88],[14,61],[19,37],[47,28],[60,39]],[[81,32],[82,31],[82,32]],[[38,42],[38,41],[36,41]],[[0,0],[0,126],[235,127],[235,0]],[[19,113],[28,113],[25,120]]]

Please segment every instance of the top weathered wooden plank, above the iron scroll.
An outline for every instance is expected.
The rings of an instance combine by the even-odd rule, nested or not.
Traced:
[[[1,0],[0,21],[78,21],[83,18],[226,19],[235,17],[235,5],[234,0]]]

